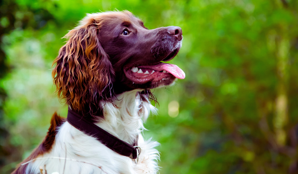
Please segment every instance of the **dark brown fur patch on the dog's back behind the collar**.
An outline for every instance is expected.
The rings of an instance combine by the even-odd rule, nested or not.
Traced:
[[[40,155],[43,155],[49,151],[51,151],[52,146],[55,142],[55,136],[57,134],[57,128],[61,126],[66,121],[65,118],[61,118],[57,112],[55,112],[51,119],[51,125],[49,127],[49,131],[44,138],[43,142],[33,150],[32,154],[25,159],[23,162],[18,164],[16,169],[13,171],[12,174],[24,174],[28,164],[21,165],[22,163],[28,162],[32,159],[37,158]],[[30,173],[30,171],[28,171]]]

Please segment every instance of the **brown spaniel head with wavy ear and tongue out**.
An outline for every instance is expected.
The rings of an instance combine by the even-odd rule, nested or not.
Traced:
[[[60,99],[75,110],[98,110],[100,99],[185,77],[176,65],[161,62],[181,48],[180,27],[148,30],[131,12],[103,12],[88,14],[65,37],[52,76]]]

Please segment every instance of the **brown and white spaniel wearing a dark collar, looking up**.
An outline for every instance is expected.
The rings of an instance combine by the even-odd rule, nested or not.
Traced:
[[[87,14],[66,34],[52,77],[67,119],[54,113],[43,142],[13,174],[157,173],[158,143],[142,130],[156,101],[150,89],[183,79],[169,61],[179,52],[177,26],[148,30],[131,12]]]

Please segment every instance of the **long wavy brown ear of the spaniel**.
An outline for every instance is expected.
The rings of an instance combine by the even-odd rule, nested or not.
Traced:
[[[90,16],[69,31],[66,44],[55,59],[52,77],[60,101],[75,110],[96,113],[105,89],[111,89],[114,70],[99,41],[100,21]],[[110,92],[108,92],[110,94]],[[96,110],[94,110],[96,109]],[[93,114],[92,114],[93,115]]]

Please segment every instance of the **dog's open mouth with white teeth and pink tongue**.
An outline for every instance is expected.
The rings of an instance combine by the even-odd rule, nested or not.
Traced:
[[[176,78],[184,79],[185,73],[177,65],[158,63],[154,65],[140,65],[124,69],[126,77],[136,84],[148,82],[168,82]]]

